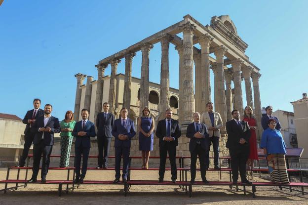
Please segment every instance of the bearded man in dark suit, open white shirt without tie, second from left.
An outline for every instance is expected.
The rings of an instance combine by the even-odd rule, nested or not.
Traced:
[[[60,123],[58,118],[51,116],[52,105],[46,104],[44,115],[36,119],[32,124],[31,131],[35,134],[33,140],[33,174],[29,182],[36,182],[39,173],[39,163],[41,155],[43,156],[41,167],[41,183],[46,182],[50,154],[53,145],[53,134],[60,132]]]

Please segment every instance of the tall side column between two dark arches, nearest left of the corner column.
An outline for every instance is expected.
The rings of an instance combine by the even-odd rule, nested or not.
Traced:
[[[171,36],[166,35],[161,38],[161,67],[160,67],[160,93],[159,93],[159,120],[165,118],[165,110],[169,106],[169,43]]]

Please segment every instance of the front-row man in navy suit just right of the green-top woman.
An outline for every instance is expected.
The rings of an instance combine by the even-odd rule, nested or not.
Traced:
[[[81,110],[82,120],[75,124],[72,135],[76,137],[75,140],[75,174],[76,178],[74,180],[75,184],[83,183],[87,167],[88,167],[88,157],[91,147],[90,137],[95,137],[95,125],[88,120],[89,111],[87,109]],[[80,174],[80,163],[82,155],[82,169]]]

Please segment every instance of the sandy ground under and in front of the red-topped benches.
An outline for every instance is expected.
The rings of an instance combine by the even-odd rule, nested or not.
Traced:
[[[31,177],[32,171],[29,171]],[[71,172],[72,173],[72,172]],[[10,179],[16,178],[17,171],[11,171]],[[40,173],[39,173],[40,174]],[[115,172],[105,170],[88,171],[85,180],[113,180]],[[72,176],[72,174],[71,174]],[[250,181],[265,181],[254,174]],[[0,170],[0,180],[5,179],[6,169]],[[25,177],[25,171],[21,171],[21,178]],[[66,179],[67,171],[50,170],[47,180]],[[166,171],[165,180],[170,180],[170,171]],[[190,180],[190,174],[188,176]],[[131,179],[156,180],[158,171],[132,171]],[[178,176],[179,179],[179,176]],[[209,181],[219,181],[218,172],[207,172]],[[200,180],[197,172],[196,181]],[[229,181],[229,173],[223,173],[221,181]],[[12,185],[12,184],[11,184]],[[0,189],[4,185],[0,184]],[[98,205],[98,204],[121,204],[121,205],[308,205],[308,195],[288,190],[280,190],[278,187],[257,187],[256,198],[252,198],[251,188],[248,194],[242,191],[236,192],[228,186],[209,187],[193,186],[192,198],[179,186],[132,186],[127,197],[123,194],[123,185],[80,185],[78,189],[63,193],[58,196],[58,185],[28,184],[26,188],[8,191],[6,194],[0,192],[0,205]],[[308,191],[306,189],[306,191]]]

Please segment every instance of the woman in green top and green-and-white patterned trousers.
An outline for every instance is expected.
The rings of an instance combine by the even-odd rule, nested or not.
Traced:
[[[67,167],[70,164],[70,154],[71,154],[71,147],[73,142],[72,131],[75,126],[74,116],[72,111],[67,111],[65,114],[65,119],[61,121],[61,157],[60,157],[60,167]]]

